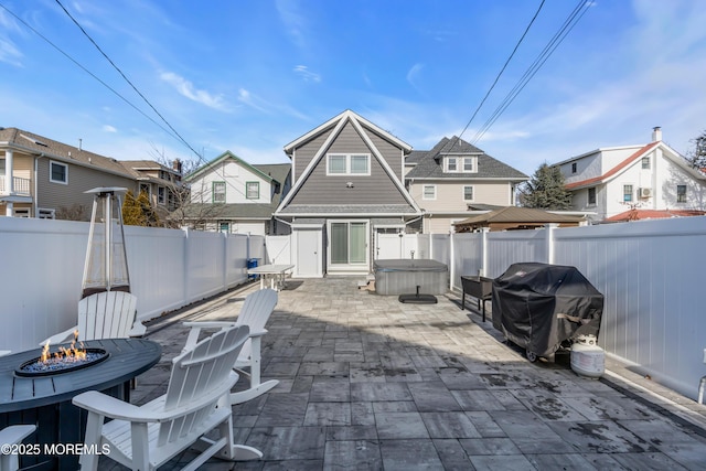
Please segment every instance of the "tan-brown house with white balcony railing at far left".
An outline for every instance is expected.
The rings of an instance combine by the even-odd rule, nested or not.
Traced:
[[[0,128],[0,215],[88,221],[97,186],[139,186],[116,159],[18,128]]]

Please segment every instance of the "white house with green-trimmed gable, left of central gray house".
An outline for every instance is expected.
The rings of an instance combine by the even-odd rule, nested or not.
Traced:
[[[288,234],[272,213],[290,186],[289,163],[249,164],[226,151],[184,178],[191,191],[183,220],[197,228],[236,234]]]

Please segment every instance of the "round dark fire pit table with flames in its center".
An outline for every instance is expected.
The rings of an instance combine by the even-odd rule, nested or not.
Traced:
[[[42,349],[0,357],[0,429],[17,424],[38,427],[25,443],[35,443],[32,450],[39,453],[20,456],[22,469],[78,469],[79,456],[71,447],[83,443],[86,413],[71,399],[86,390],[100,390],[129,402],[130,379],[154,366],[162,354],[158,343],[142,339],[93,340],[84,346],[105,351],[107,357],[41,375],[26,375],[19,368],[38,358]],[[52,447],[55,453],[45,454]]]

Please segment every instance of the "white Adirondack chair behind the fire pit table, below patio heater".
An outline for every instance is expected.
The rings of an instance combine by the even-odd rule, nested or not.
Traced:
[[[40,343],[57,344],[73,340],[124,339],[141,336],[147,328],[135,322],[137,297],[125,291],[103,291],[78,301],[78,324]]]

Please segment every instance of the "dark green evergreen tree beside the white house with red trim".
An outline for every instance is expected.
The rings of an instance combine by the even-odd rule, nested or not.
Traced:
[[[543,163],[522,189],[520,201],[523,206],[538,210],[569,210],[571,193],[564,185],[559,168]]]

